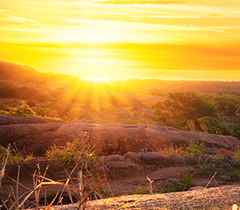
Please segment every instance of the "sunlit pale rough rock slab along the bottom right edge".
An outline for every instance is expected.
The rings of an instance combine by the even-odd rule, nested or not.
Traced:
[[[240,186],[227,185],[187,192],[127,195],[90,201],[86,209],[231,209],[240,203]],[[55,210],[75,210],[78,205],[58,205]]]

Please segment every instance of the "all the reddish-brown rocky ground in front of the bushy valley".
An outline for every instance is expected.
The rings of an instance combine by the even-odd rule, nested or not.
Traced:
[[[50,145],[64,145],[75,138],[95,144],[96,161],[84,166],[79,163],[70,180],[78,187],[75,178],[78,178],[81,168],[84,180],[93,177],[97,184],[106,178],[98,190],[97,196],[101,199],[88,202],[89,209],[224,209],[234,203],[240,204],[240,161],[219,156],[221,147],[233,150],[240,146],[240,141],[234,137],[183,132],[164,126],[98,126],[38,119],[29,124],[26,123],[27,118],[3,117],[0,116],[1,144],[6,146],[15,142],[23,154],[33,152],[41,155]],[[165,154],[164,151],[187,145],[190,140],[204,142],[207,155]],[[0,188],[0,200],[7,200],[9,195],[12,200],[16,197],[14,180],[17,180],[19,166],[21,185],[18,185],[18,195],[24,197],[34,189],[34,172],[39,171],[43,175],[46,171],[45,177],[65,183],[75,165],[41,156],[31,162],[9,163]],[[191,189],[197,190],[189,191]],[[89,190],[86,188],[84,193]],[[185,192],[167,193],[176,190]],[[49,192],[54,194],[57,191],[58,188],[42,190],[40,201],[46,195],[50,196]],[[143,193],[149,194],[137,195]],[[124,197],[119,197],[122,195]],[[67,192],[64,199],[69,202]],[[35,202],[33,194],[24,207],[34,207]],[[11,205],[9,203],[8,199],[8,205]],[[76,209],[76,205],[54,208]]]

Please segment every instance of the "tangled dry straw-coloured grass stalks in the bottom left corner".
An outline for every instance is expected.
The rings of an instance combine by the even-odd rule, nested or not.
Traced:
[[[68,175],[68,178],[65,180],[65,182],[63,181],[54,181],[51,180],[49,178],[46,177],[46,173],[48,168],[46,168],[45,172],[43,175],[41,175],[40,172],[40,167],[38,166],[38,171],[34,172],[33,174],[33,186],[34,188],[28,189],[27,187],[21,185],[19,183],[19,176],[20,176],[20,167],[18,168],[18,175],[17,175],[17,180],[13,180],[16,183],[16,193],[14,193],[14,191],[11,191],[11,195],[8,196],[8,199],[5,201],[2,201],[2,205],[1,207],[4,206],[5,209],[7,210],[11,210],[11,209],[24,209],[24,206],[26,204],[26,202],[32,198],[32,195],[35,196],[35,206],[37,209],[40,208],[40,193],[41,192],[45,192],[45,198],[44,200],[47,201],[47,197],[46,197],[46,190],[49,189],[57,189],[56,195],[54,196],[54,198],[51,200],[51,202],[49,204],[46,204],[45,202],[45,209],[48,210],[51,208],[51,206],[56,202],[57,204],[61,204],[62,203],[62,199],[63,199],[63,192],[67,192],[68,197],[71,201],[71,203],[73,204],[73,195],[75,197],[75,199],[77,199],[78,202],[78,207],[77,209],[85,209],[86,203],[89,199],[89,197],[91,196],[91,194],[93,192],[95,192],[105,181],[106,179],[102,179],[99,183],[97,183],[92,189],[90,189],[89,192],[86,193],[86,189],[91,187],[91,183],[93,181],[93,178],[90,178],[87,182],[86,185],[83,185],[83,177],[81,177],[81,179],[74,179],[72,178],[72,174],[73,172],[78,168],[78,165],[76,165],[73,170],[71,171],[71,173]],[[81,172],[80,172],[81,173]],[[74,180],[78,180],[77,184],[73,183],[73,179]],[[25,189],[27,189],[28,191],[19,195],[18,189],[19,189],[19,185],[21,185],[22,187],[24,187]],[[76,187],[76,186],[81,186],[80,188]]]

